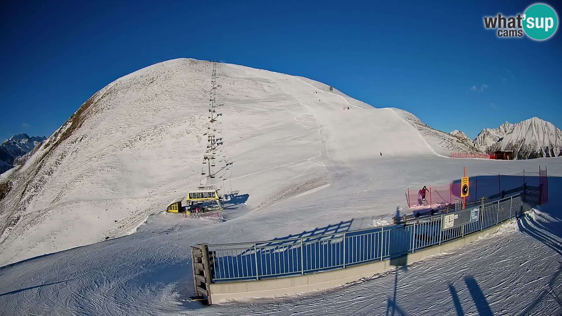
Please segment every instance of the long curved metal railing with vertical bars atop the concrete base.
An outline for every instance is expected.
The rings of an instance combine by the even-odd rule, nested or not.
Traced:
[[[466,210],[418,216],[404,223],[343,233],[262,242],[206,245],[211,282],[284,277],[382,261],[462,238],[541,204],[542,186]],[[462,213],[462,214],[461,214]],[[456,225],[453,218],[468,222]],[[450,223],[445,223],[451,219]],[[456,219],[455,219],[456,220]],[[448,228],[447,225],[452,225]],[[203,254],[205,255],[205,254]]]

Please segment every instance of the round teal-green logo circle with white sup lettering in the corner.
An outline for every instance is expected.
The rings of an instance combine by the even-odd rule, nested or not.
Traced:
[[[547,4],[533,4],[523,14],[523,29],[532,39],[547,39],[556,33],[557,28],[558,15]]]

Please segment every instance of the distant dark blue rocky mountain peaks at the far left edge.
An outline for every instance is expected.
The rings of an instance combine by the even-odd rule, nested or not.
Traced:
[[[14,160],[31,152],[47,137],[33,136],[28,134],[17,134],[6,139],[0,144],[0,174],[13,168]],[[17,161],[16,161],[17,162]]]

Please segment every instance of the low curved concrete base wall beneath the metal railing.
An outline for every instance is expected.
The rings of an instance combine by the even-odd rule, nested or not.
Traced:
[[[428,247],[427,249],[416,250],[414,253],[405,254],[397,258],[353,265],[345,269],[306,274],[304,276],[267,278],[260,279],[259,281],[216,282],[210,285],[210,295],[212,296],[213,303],[220,303],[225,300],[276,297],[307,291],[325,290],[359,281],[362,278],[372,277],[377,273],[385,272],[395,267],[409,265],[428,256],[458,249],[484,236],[484,234],[496,232],[502,225],[513,223],[515,220],[511,219],[501,225],[469,234],[464,238],[451,240],[442,243],[442,245]]]

